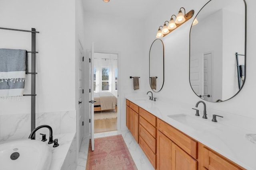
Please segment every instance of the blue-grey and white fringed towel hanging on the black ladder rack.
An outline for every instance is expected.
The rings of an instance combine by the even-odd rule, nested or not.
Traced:
[[[0,98],[23,96],[26,77],[26,50],[0,49]]]

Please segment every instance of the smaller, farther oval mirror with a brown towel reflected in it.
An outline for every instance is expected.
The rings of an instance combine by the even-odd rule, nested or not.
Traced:
[[[153,41],[149,51],[149,84],[154,92],[164,85],[164,43],[161,39]]]

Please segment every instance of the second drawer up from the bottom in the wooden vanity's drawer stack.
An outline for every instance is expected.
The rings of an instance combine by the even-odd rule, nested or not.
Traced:
[[[139,134],[140,137],[144,139],[148,147],[154,152],[154,154],[156,154],[156,139],[152,137],[152,135],[150,135],[150,133],[148,133],[148,131],[142,125],[140,125]]]

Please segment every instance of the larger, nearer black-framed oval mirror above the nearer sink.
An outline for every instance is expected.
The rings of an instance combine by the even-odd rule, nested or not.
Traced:
[[[222,102],[238,94],[245,73],[246,2],[210,0],[190,29],[190,85],[200,98]]]

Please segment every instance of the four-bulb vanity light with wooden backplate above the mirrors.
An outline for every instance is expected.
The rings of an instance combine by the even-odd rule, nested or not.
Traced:
[[[162,37],[168,35],[171,31],[178,28],[180,25],[182,25],[186,21],[190,20],[190,18],[192,18],[192,16],[194,15],[194,10],[190,10],[190,12],[188,12],[186,14],[185,8],[183,8],[184,13],[185,13],[185,15],[183,15],[183,13],[181,12],[182,8],[183,7],[180,8],[180,11],[177,16],[172,15],[172,16],[175,16],[175,18],[176,18],[175,21],[171,16],[170,21],[165,21],[164,26],[160,26],[160,27],[162,27],[162,31],[161,31],[160,27],[158,28],[158,31],[156,33],[156,38],[162,38]],[[166,22],[168,22],[168,26],[166,25]]]

